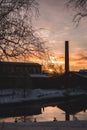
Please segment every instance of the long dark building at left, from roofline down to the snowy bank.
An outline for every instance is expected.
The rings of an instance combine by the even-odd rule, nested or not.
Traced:
[[[0,88],[32,88],[30,74],[41,74],[41,65],[25,62],[0,62]]]

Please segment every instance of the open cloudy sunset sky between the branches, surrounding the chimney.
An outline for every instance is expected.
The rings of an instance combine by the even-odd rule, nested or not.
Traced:
[[[66,0],[39,0],[39,16],[33,24],[58,61],[64,61],[65,41],[68,40],[70,70],[87,69],[87,18],[76,27],[72,22],[75,12],[65,3]]]

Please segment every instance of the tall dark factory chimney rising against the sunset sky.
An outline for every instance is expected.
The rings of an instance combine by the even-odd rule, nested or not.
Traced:
[[[65,73],[69,72],[69,41],[65,41]]]

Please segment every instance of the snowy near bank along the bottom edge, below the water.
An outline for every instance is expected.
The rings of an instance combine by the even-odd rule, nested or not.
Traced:
[[[87,121],[2,122],[0,130],[87,130]]]

